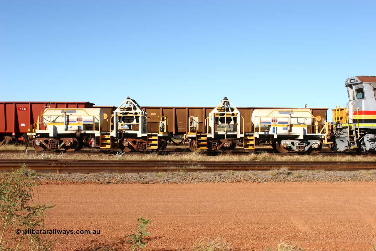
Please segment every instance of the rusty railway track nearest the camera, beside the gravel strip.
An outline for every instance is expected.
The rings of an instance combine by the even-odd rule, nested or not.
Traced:
[[[150,171],[249,171],[288,167],[289,170],[371,170],[376,162],[306,162],[306,161],[115,161],[115,160],[56,160],[0,159],[0,170],[17,169],[27,165],[38,172],[55,173],[112,173]]]

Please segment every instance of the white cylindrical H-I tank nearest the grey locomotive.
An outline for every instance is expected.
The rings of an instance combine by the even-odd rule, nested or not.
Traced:
[[[291,114],[291,117],[290,117]],[[252,112],[251,121],[254,129],[265,130],[270,126],[310,125],[314,116],[308,108],[296,109],[255,109]]]

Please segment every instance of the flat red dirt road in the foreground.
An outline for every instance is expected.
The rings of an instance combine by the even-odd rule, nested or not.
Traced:
[[[152,219],[145,250],[191,250],[201,236],[223,236],[235,250],[299,242],[305,250],[372,250],[376,241],[376,182],[258,184],[41,185],[55,208],[45,226],[100,230],[63,234],[57,251],[115,245],[137,219]]]

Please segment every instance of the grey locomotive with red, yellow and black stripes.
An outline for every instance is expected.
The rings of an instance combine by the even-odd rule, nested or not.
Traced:
[[[325,126],[324,142],[334,151],[376,152],[376,76],[347,78],[349,103],[333,110]]]

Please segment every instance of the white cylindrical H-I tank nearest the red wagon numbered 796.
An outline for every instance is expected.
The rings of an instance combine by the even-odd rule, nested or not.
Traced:
[[[100,108],[47,108],[44,110],[42,119],[46,127],[47,124],[51,123],[62,123],[64,125],[64,122],[67,122],[67,126],[71,125],[74,128],[76,128],[77,124],[83,124],[84,127],[92,128],[93,123],[95,128],[100,128],[103,124],[103,118],[104,114]],[[81,129],[84,130],[85,128]]]

